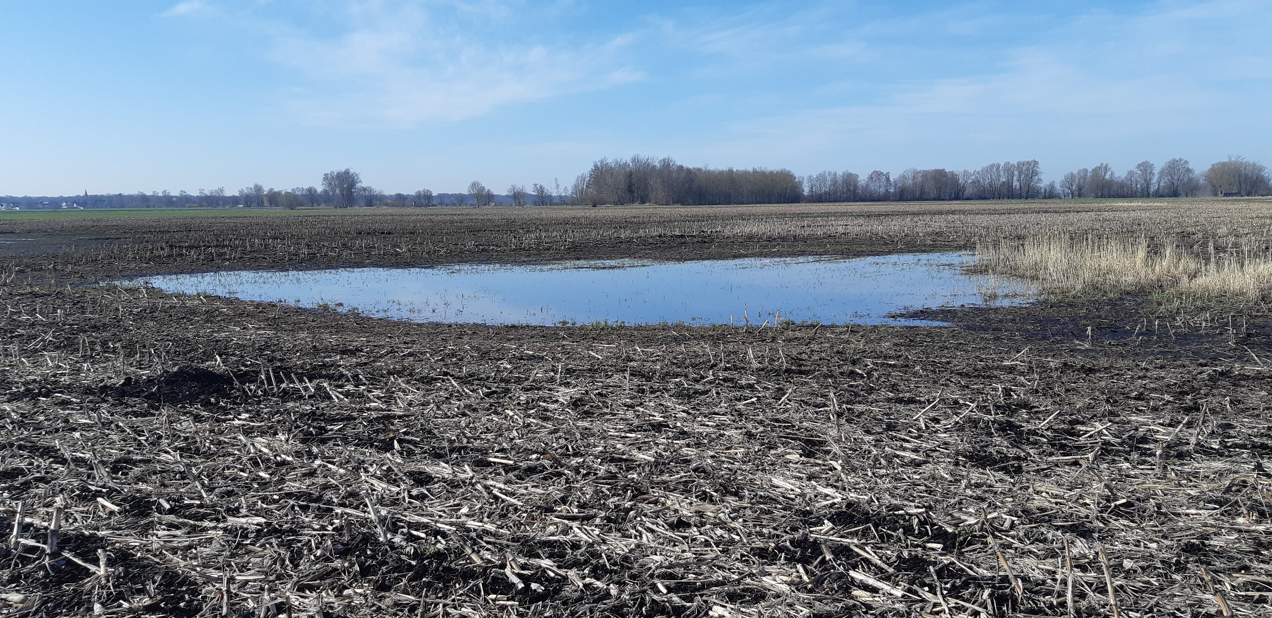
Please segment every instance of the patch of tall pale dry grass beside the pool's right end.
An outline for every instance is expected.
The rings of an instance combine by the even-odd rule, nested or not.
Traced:
[[[976,268],[1060,291],[1184,292],[1259,299],[1272,284],[1272,245],[1241,237],[1188,243],[1051,233],[977,247]]]

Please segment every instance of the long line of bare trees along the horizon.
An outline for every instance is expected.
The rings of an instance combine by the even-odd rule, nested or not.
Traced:
[[[495,193],[473,181],[464,193],[385,193],[364,184],[351,170],[323,174],[321,186],[291,189],[253,184],[230,193],[224,187],[197,193],[156,191],[83,196],[0,197],[3,209],[145,209],[145,207],[284,207],[301,206],[552,206],[552,205],[725,205],[795,202],[876,202],[926,200],[1074,200],[1108,197],[1191,197],[1272,195],[1268,170],[1241,156],[1211,164],[1198,173],[1184,159],[1158,168],[1142,161],[1124,174],[1102,163],[1065,173],[1043,183],[1037,160],[991,163],[979,169],[909,168],[893,175],[874,170],[862,178],[854,172],[826,170],[796,175],[789,169],[712,169],[686,167],[670,156],[655,159],[600,159],[591,169],[562,187],[534,183],[527,189],[513,184]]]

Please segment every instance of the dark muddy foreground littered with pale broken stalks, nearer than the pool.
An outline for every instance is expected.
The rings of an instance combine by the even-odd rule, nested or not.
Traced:
[[[1272,615],[1258,314],[486,328],[9,264],[9,615]]]

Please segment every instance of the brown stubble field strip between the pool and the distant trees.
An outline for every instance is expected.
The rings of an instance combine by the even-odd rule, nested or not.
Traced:
[[[1267,207],[1266,198],[1179,198],[0,214],[0,271],[76,282],[228,268],[865,257],[1040,231],[1264,234]]]

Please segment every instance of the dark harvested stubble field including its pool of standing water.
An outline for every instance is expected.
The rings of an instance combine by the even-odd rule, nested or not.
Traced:
[[[0,614],[1272,617],[1264,296],[936,253],[1267,201],[1002,202],[0,221]]]

